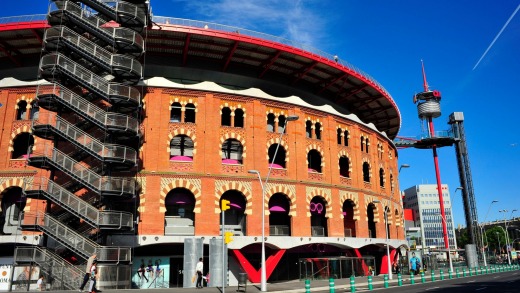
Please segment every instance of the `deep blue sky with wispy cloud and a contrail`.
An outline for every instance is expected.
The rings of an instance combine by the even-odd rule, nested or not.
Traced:
[[[479,220],[520,216],[520,0],[151,0],[154,15],[255,30],[338,55],[378,80],[402,115],[400,136],[422,132],[415,93],[421,59],[430,89],[442,93],[435,130],[464,113]],[[3,1],[0,16],[42,14],[45,0]],[[515,15],[515,12],[518,14]],[[513,17],[512,17],[513,16]],[[507,24],[507,25],[506,25]],[[497,37],[498,36],[498,37]],[[491,45],[491,46],[490,46]],[[454,147],[439,150],[442,183],[465,225]],[[399,150],[401,189],[435,184],[431,150]]]

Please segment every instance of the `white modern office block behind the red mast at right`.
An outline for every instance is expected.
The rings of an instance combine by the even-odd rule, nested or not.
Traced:
[[[450,249],[457,247],[455,238],[455,227],[453,225],[453,212],[451,205],[451,197],[448,185],[442,185],[442,194],[444,199],[444,209],[446,213],[446,225],[448,229],[448,239]],[[436,184],[421,184],[404,190],[403,205],[405,209],[410,209],[413,213],[415,227],[420,229],[411,229],[412,231],[420,231],[420,239],[416,243],[417,249],[425,251],[444,249],[444,237],[442,233],[443,219],[439,207],[439,195]]]

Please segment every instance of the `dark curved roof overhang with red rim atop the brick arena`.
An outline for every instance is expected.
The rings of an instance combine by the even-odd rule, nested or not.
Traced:
[[[202,67],[276,82],[337,105],[374,124],[390,139],[397,135],[401,115],[394,100],[377,81],[354,66],[322,52],[270,40],[268,35],[252,36],[249,31],[223,26],[208,28],[202,22],[188,24],[155,23],[146,33],[146,60],[153,60],[148,56],[167,58],[172,66]],[[11,66],[25,66],[22,56],[41,53],[46,27],[44,19],[0,22],[0,60],[7,58]]]

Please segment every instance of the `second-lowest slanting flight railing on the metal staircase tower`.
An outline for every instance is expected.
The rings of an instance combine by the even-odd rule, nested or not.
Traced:
[[[128,262],[131,260],[130,247],[101,246],[81,236],[49,214],[22,212],[20,222],[22,226],[38,227],[56,241],[81,254],[84,258],[89,258],[92,254],[96,253],[96,257],[99,261]]]

